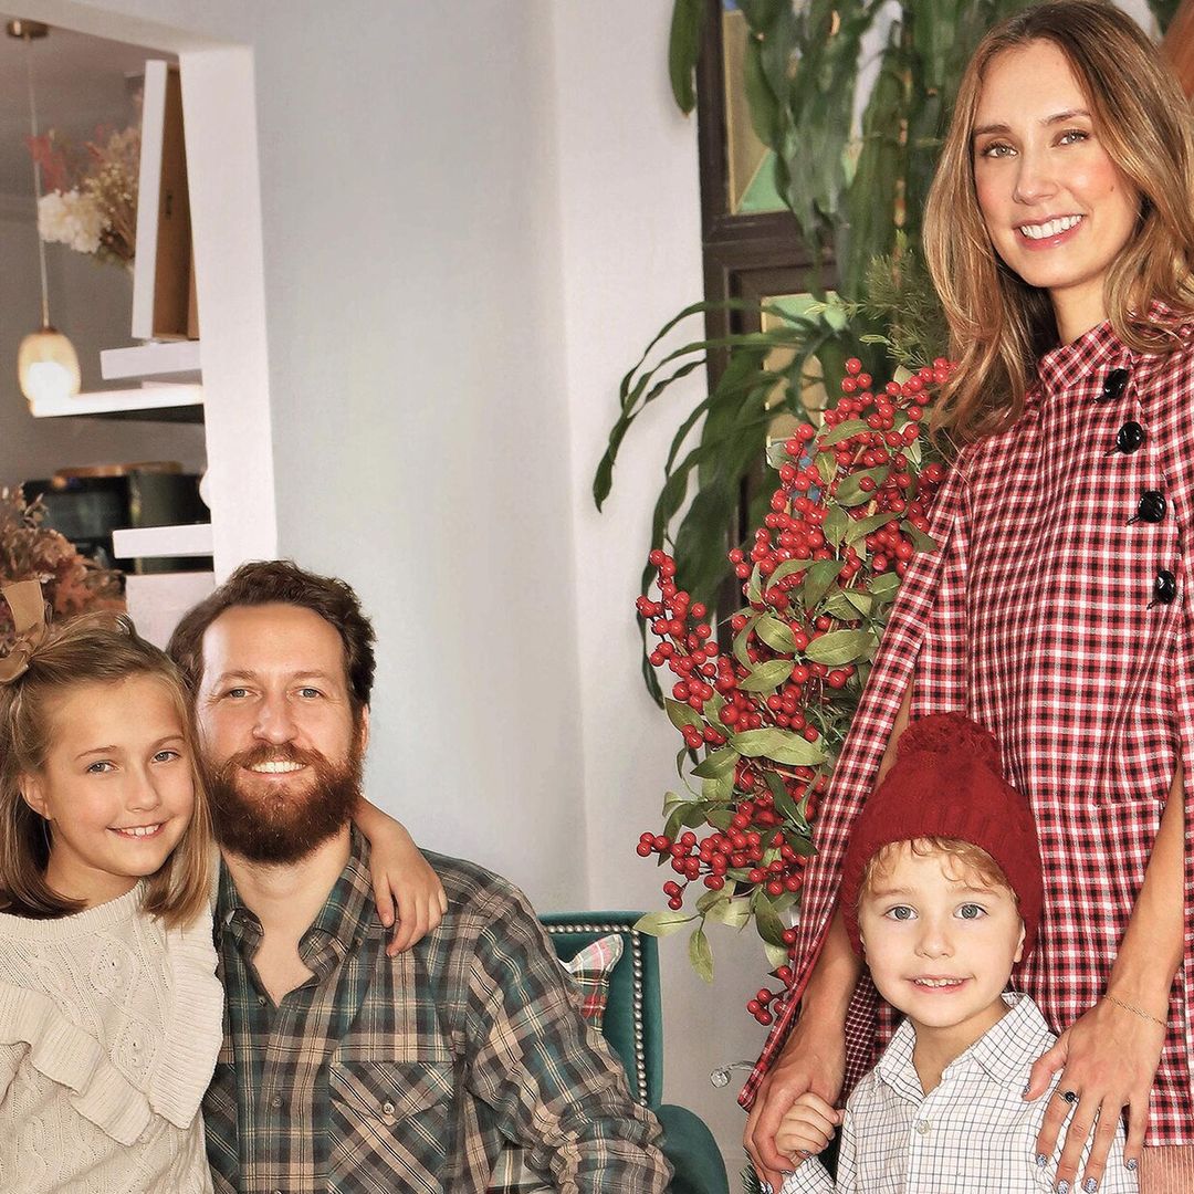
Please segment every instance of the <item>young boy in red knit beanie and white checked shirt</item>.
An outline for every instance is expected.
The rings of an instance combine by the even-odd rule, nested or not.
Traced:
[[[1035,1151],[1048,1100],[1066,1094],[1054,1083],[1023,1098],[1054,1036],[1027,995],[1005,991],[1042,898],[1036,825],[995,739],[960,714],[913,722],[855,823],[839,897],[855,950],[906,1018],[844,1113],[810,1093],[784,1116],[776,1143],[798,1168],[782,1194],[1069,1194],[1060,1144]],[[838,1125],[835,1186],[811,1155]],[[1076,1192],[1135,1194],[1122,1124],[1101,1180],[1078,1174]]]

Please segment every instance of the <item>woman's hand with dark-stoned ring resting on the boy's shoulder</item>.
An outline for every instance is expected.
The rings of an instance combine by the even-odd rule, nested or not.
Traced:
[[[1067,1181],[1071,1189],[1082,1189],[1091,1177],[1100,1187],[1104,1184],[1107,1155],[1125,1108],[1128,1120],[1122,1163],[1139,1163],[1149,1121],[1149,1095],[1164,1038],[1161,1024],[1101,999],[1036,1059],[1024,1098],[1040,1098],[1053,1075],[1061,1071],[1036,1138],[1038,1156],[1053,1156],[1065,1121],[1073,1112],[1058,1161],[1059,1182]],[[1078,1165],[1088,1141],[1090,1155],[1079,1181]]]

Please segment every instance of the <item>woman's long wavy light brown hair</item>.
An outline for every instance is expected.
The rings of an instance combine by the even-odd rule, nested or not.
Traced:
[[[1020,417],[1036,361],[1058,343],[1048,293],[1001,260],[974,186],[972,131],[987,67],[1033,42],[1051,42],[1065,55],[1100,142],[1140,195],[1135,234],[1104,283],[1115,333],[1137,351],[1168,352],[1175,327],[1194,312],[1194,140],[1177,81],[1132,18],[1110,4],[1055,0],[1017,13],[974,51],[925,208],[925,259],[959,364],[931,425],[959,445]],[[1165,316],[1150,316],[1157,301],[1169,308]]]

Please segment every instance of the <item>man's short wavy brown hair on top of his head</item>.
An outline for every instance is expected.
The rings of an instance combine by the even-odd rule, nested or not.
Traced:
[[[192,693],[203,679],[203,635],[226,610],[240,605],[297,605],[318,614],[340,635],[352,713],[359,718],[373,693],[374,629],[352,587],[336,577],[319,577],[294,560],[242,564],[210,597],[199,602],[171,635],[171,659]]]

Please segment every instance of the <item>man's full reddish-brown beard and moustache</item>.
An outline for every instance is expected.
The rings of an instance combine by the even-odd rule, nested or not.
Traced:
[[[301,763],[314,778],[304,775],[298,790],[285,787],[284,781],[248,781],[242,769],[260,763]],[[363,752],[356,743],[339,767],[319,751],[263,743],[233,755],[219,768],[209,767],[216,841],[250,862],[298,862],[349,823],[361,795],[362,763]]]

